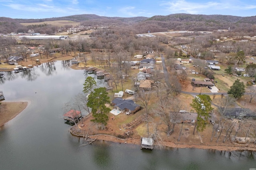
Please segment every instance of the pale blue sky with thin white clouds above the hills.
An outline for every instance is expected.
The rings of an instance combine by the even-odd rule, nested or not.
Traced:
[[[52,18],[76,14],[109,17],[221,14],[256,16],[256,0],[0,0],[0,16]]]

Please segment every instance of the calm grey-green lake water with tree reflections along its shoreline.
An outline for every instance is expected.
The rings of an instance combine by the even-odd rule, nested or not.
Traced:
[[[83,70],[69,61],[46,63],[20,73],[4,72],[0,91],[6,101],[30,101],[17,117],[0,128],[0,170],[249,170],[255,152],[194,148],[140,150],[133,144],[98,141],[80,146],[62,118],[62,105],[83,90]],[[94,75],[91,75],[94,76]],[[104,80],[97,80],[105,86]]]

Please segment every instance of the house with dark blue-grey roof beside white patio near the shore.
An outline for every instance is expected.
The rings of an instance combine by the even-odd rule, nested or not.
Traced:
[[[140,110],[140,105],[137,105],[133,100],[115,98],[111,104],[114,106],[114,109],[121,112],[136,113]]]

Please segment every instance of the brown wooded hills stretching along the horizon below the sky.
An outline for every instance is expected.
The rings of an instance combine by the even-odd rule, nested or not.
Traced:
[[[56,20],[71,20],[81,22],[84,26],[108,26],[122,27],[132,26],[136,28],[137,34],[151,32],[162,32],[168,30],[188,30],[188,31],[214,31],[218,29],[242,30],[244,32],[253,31],[256,24],[256,16],[240,17],[230,15],[197,15],[197,14],[170,14],[167,16],[147,17],[105,17],[95,14],[82,14],[73,16],[64,16],[57,18],[43,19],[12,19],[0,17],[0,33],[24,32],[28,27],[20,23],[35,23]],[[49,25],[48,25],[49,26]]]

